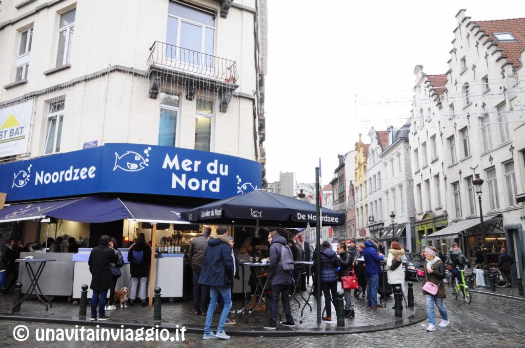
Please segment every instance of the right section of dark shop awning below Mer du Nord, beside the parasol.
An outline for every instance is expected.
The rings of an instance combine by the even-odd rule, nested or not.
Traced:
[[[181,211],[187,210],[187,206],[139,202],[127,199],[123,199],[121,202],[128,208],[132,216],[130,219],[134,221],[190,224],[181,218]]]

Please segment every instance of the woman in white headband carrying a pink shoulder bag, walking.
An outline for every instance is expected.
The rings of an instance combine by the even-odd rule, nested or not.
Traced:
[[[442,260],[437,257],[437,249],[433,246],[425,248],[425,276],[423,277],[423,295],[427,305],[428,327],[427,331],[435,331],[435,315],[434,303],[441,314],[440,328],[445,328],[450,324],[448,320],[447,309],[443,303],[443,299],[447,297],[445,292],[445,265]]]

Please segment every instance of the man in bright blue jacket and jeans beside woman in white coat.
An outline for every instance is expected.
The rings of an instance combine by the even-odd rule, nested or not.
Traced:
[[[366,303],[372,308],[382,308],[377,303],[377,289],[379,288],[379,275],[381,273],[381,261],[383,254],[377,251],[377,241],[374,237],[367,239],[364,242],[364,271],[366,274]]]

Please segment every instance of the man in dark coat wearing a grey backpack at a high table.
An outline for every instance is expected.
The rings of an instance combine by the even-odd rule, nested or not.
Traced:
[[[293,322],[292,312],[290,309],[289,286],[291,284],[291,274],[289,271],[282,269],[280,260],[282,253],[291,253],[289,248],[286,248],[286,240],[280,236],[277,231],[272,231],[268,234],[268,243],[270,243],[270,269],[269,277],[271,284],[271,315],[270,322],[263,328],[267,330],[277,329],[277,302],[279,301],[279,294],[281,295],[282,307],[285,308],[286,321],[280,324],[287,327],[295,327]]]

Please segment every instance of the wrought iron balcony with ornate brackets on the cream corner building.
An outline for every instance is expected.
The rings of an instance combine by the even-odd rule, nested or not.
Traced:
[[[206,89],[221,95],[220,111],[232,98],[239,79],[237,63],[206,53],[155,41],[150,47],[148,66],[150,71],[150,97],[159,93],[161,75],[171,75],[171,81],[184,84],[186,99],[193,100],[197,89]],[[164,78],[165,79],[165,78]]]

